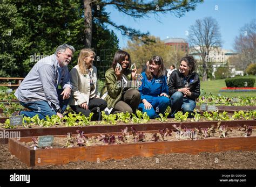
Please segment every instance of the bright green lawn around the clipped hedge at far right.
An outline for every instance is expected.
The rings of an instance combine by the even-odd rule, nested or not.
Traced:
[[[256,78],[256,76],[244,76],[246,78]],[[228,97],[256,97],[256,92],[219,92],[219,90],[223,87],[226,87],[225,79],[221,80],[213,80],[213,81],[201,81],[201,89],[208,94],[211,92],[213,95],[218,96],[228,96]],[[254,83],[254,87],[256,87],[256,81]]]

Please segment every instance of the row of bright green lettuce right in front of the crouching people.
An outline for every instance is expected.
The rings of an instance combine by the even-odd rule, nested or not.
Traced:
[[[33,125],[39,127],[54,127],[58,126],[88,126],[88,125],[116,125],[118,122],[125,123],[125,124],[145,124],[150,121],[149,116],[147,116],[146,112],[142,112],[137,110],[136,114],[130,114],[128,112],[124,113],[117,113],[117,114],[110,114],[107,115],[102,112],[102,120],[101,121],[91,121],[93,113],[90,113],[89,117],[84,116],[82,113],[69,113],[64,118],[60,119],[57,115],[53,115],[52,117],[46,116],[46,119],[39,119],[38,114],[32,118],[30,117],[23,117],[22,126],[24,128],[32,128]],[[159,114],[159,117],[156,120],[160,121],[161,123],[167,121],[186,121],[188,120],[188,112],[183,114],[182,112],[177,112],[174,114],[174,119],[167,119],[169,116],[168,112],[165,114]],[[193,118],[190,118],[190,121],[200,121],[200,120],[208,120],[208,121],[225,121],[225,120],[251,120],[256,118],[256,111],[250,112],[234,112],[233,116],[228,116],[227,112],[204,112],[203,114],[194,112],[192,113]],[[10,119],[6,119],[5,124],[3,125],[4,128],[17,128],[18,126],[10,125]]]

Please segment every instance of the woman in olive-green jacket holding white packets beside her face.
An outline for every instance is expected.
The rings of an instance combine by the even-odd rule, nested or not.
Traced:
[[[140,102],[138,90],[131,87],[131,82],[136,82],[136,66],[131,68],[130,54],[125,51],[117,51],[114,54],[112,67],[106,71],[105,86],[100,95],[107,102],[105,112],[136,113]]]

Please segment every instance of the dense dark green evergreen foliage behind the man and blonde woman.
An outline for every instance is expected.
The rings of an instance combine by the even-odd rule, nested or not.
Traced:
[[[0,4],[0,10],[0,76],[25,76],[38,60],[53,54],[63,43],[77,50],[69,68],[77,64],[85,40],[82,1],[11,2]],[[99,18],[105,15],[104,10],[95,13]],[[92,47],[116,51],[116,34],[97,19],[93,25]]]

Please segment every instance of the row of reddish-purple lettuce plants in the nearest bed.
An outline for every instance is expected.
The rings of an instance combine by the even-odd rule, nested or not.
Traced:
[[[83,131],[77,130],[75,136],[72,136],[70,133],[66,136],[64,141],[62,141],[63,147],[79,147],[79,146],[93,146],[93,145],[113,145],[113,144],[122,144],[122,143],[136,143],[136,142],[147,142],[147,141],[168,141],[170,137],[172,139],[188,139],[188,140],[197,140],[197,139],[206,139],[211,136],[216,136],[219,134],[219,138],[227,138],[228,135],[233,131],[231,128],[228,128],[227,125],[220,125],[218,123],[217,126],[212,125],[211,128],[183,128],[181,125],[172,125],[175,130],[169,130],[168,128],[164,128],[163,130],[158,130],[158,133],[147,133],[147,132],[137,132],[134,127],[131,127],[130,133],[129,128],[125,127],[125,129],[121,130],[122,133],[118,135],[110,135],[110,134],[100,134],[98,136],[91,136],[90,138],[84,134]],[[238,131],[240,131],[241,136],[251,136],[252,135],[252,127],[242,125]],[[29,143],[30,147],[34,149],[38,148],[38,139],[32,137],[32,142]],[[46,149],[52,147],[44,147]]]

